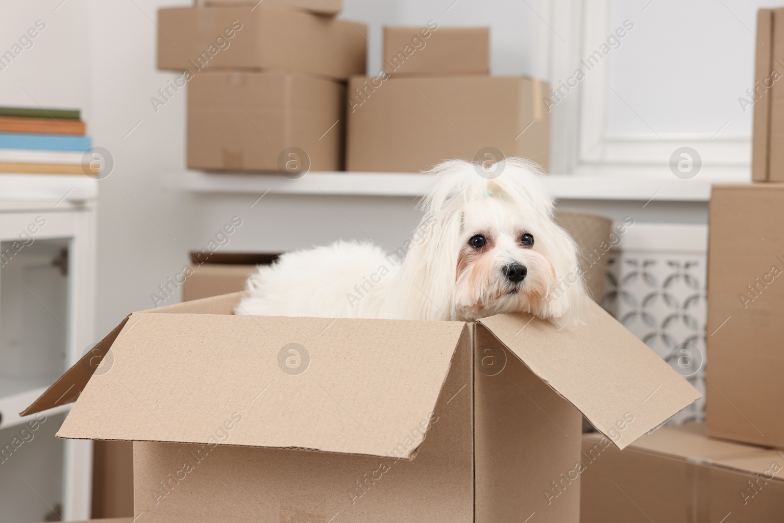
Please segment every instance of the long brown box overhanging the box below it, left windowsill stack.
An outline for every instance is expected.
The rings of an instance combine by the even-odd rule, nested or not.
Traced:
[[[278,5],[158,11],[158,68],[281,69],[346,80],[365,74],[367,26]]]

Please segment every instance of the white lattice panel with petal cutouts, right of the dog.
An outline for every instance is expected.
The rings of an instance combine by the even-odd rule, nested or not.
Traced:
[[[707,227],[635,224],[610,252],[602,305],[705,394]],[[705,419],[695,401],[669,423]]]

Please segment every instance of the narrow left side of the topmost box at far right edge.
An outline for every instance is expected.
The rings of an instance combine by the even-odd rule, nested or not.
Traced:
[[[764,85],[773,70],[773,9],[757,12],[757,59],[754,72],[755,85]],[[755,182],[770,179],[768,154],[771,140],[771,93],[762,93],[754,104],[751,174]]]

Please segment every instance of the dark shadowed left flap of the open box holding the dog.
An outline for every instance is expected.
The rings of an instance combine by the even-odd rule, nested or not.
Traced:
[[[103,340],[100,340],[92,350],[88,350],[87,354],[82,356],[71,369],[68,369],[63,376],[60,376],[51,387],[46,389],[44,394],[41,394],[32,405],[20,412],[19,415],[28,416],[36,412],[53,409],[53,407],[66,405],[67,403],[76,401],[76,398],[79,397],[79,394],[82,394],[85,385],[87,385],[87,382],[93,376],[93,372],[98,368],[100,362],[103,361],[103,357],[106,356],[112,343],[117,339],[122,328],[125,327],[128,318],[130,318],[130,314],[120,322],[120,325],[114,327]],[[95,361],[96,358],[97,361]]]

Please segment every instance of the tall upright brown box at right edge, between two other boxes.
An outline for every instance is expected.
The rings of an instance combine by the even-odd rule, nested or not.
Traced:
[[[710,199],[706,431],[784,447],[784,183]]]

